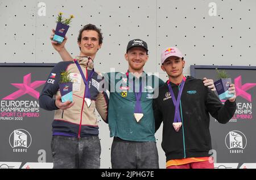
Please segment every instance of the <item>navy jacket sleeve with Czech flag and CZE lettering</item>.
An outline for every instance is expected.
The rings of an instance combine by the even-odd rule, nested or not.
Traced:
[[[57,63],[49,74],[46,84],[44,84],[44,88],[39,96],[40,108],[45,110],[59,109],[55,105],[55,99],[53,99],[53,96],[56,95],[59,89],[60,72],[65,70],[65,68],[61,68],[61,66],[63,66],[63,63]]]

